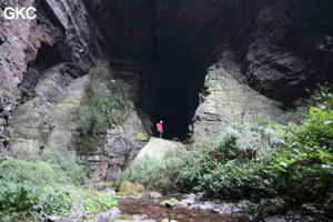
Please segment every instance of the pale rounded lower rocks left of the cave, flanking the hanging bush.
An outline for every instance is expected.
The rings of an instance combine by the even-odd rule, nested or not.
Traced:
[[[44,72],[34,88],[36,95],[13,113],[11,147],[7,154],[33,159],[46,149],[54,149],[74,160],[82,153],[78,143],[81,133],[78,120],[85,89],[90,85],[107,91],[105,79],[112,79],[113,71],[108,68],[108,62],[99,62],[89,74],[75,79],[65,71],[65,64]],[[132,90],[130,84],[122,89]],[[114,110],[114,114],[122,115],[124,121],[107,131],[105,142],[81,155],[93,169],[90,175],[95,182],[113,181],[148,141],[142,121],[133,103],[129,103],[125,112]]]

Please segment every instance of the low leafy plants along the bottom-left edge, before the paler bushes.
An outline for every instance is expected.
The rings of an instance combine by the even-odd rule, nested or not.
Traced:
[[[2,179],[0,180],[0,220],[28,221],[30,218],[41,219],[42,215],[69,214],[72,202],[79,198],[78,193],[83,198],[84,210],[89,213],[117,206],[114,195],[110,193],[84,191],[71,186],[69,194],[64,194],[57,188],[38,186],[30,181],[16,183]]]

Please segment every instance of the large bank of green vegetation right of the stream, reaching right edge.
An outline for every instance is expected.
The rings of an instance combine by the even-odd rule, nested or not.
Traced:
[[[332,220],[333,94],[313,101],[301,124],[228,127],[202,140],[198,150],[138,161],[120,180],[244,200],[258,219],[300,208]],[[165,178],[173,179],[168,186],[161,185]]]

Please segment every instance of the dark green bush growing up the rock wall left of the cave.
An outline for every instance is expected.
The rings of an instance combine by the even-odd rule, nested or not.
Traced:
[[[102,142],[108,128],[123,120],[123,112],[117,114],[114,110],[123,111],[129,107],[121,89],[111,88],[111,93],[89,87],[87,98],[79,111],[79,122],[82,137],[79,141],[81,151],[87,151]]]

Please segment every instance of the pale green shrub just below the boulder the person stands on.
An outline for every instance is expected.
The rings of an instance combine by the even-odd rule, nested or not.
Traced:
[[[129,180],[169,190],[172,185],[172,181],[169,179],[176,178],[191,158],[191,152],[180,149],[165,158],[138,160],[122,172],[117,182]]]

